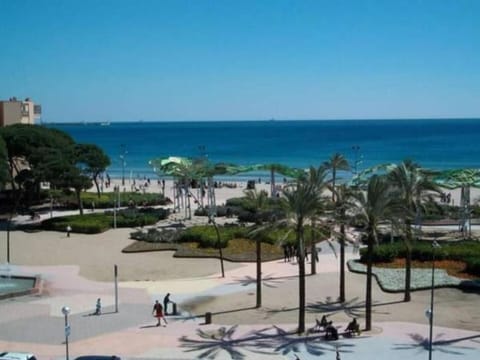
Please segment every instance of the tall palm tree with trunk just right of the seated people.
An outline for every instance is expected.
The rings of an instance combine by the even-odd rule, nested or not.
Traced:
[[[395,211],[396,200],[385,177],[374,175],[367,184],[366,192],[355,195],[356,213],[365,223],[367,237],[367,288],[365,294],[365,329],[372,328],[372,260],[373,247],[378,242],[379,225]]]

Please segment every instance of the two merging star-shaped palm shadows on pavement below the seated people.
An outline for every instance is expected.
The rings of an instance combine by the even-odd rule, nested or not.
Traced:
[[[313,356],[326,353],[352,352],[353,344],[346,344],[341,341],[326,341],[320,335],[298,335],[295,330],[285,330],[278,326],[271,326],[261,330],[252,331],[243,336],[235,336],[237,325],[230,328],[220,327],[213,330],[197,330],[196,338],[182,336],[181,347],[185,352],[200,352],[196,358],[215,359],[223,353],[230,358],[242,360],[252,358],[252,354],[273,353],[288,355],[307,352]]]

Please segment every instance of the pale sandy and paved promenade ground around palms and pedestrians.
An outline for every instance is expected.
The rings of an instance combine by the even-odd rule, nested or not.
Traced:
[[[268,186],[262,184],[267,189]],[[152,189],[153,190],[153,189]],[[222,189],[218,202],[241,194]],[[53,214],[56,215],[56,214]],[[49,214],[42,214],[47,217]],[[27,218],[18,221],[29,221]],[[198,219],[194,220],[197,221]],[[69,355],[118,355],[122,359],[427,359],[430,291],[402,293],[373,287],[373,330],[354,338],[325,341],[323,334],[298,336],[298,265],[262,265],[263,304],[255,308],[255,264],[217,259],[174,258],[172,251],[125,254],[132,229],[102,234],[11,233],[11,273],[43,279],[38,295],[0,301],[0,351],[27,351],[43,359],[65,358],[63,306],[71,309]],[[6,246],[0,237],[0,248]],[[317,274],[306,278],[307,328],[328,315],[343,330],[356,317],[364,326],[365,275],[346,274],[346,302],[339,293],[339,260],[320,247]],[[358,254],[347,248],[347,260]],[[0,264],[6,261],[3,251]],[[113,268],[118,265],[119,306],[115,312]],[[310,261],[307,261],[307,274]],[[1,281],[1,280],[0,280]],[[180,314],[156,327],[152,306],[167,292]],[[97,298],[103,313],[90,315]],[[478,293],[435,290],[434,359],[480,357]],[[212,324],[205,324],[205,313]],[[379,355],[381,354],[381,355]]]

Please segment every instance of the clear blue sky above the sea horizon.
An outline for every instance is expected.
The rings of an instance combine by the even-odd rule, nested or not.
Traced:
[[[480,117],[477,0],[0,0],[43,120]]]

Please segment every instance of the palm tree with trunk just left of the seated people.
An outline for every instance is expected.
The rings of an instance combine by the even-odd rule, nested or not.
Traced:
[[[305,332],[305,223],[315,217],[323,199],[317,183],[310,179],[320,178],[323,168],[310,168],[310,176],[300,178],[283,192],[281,203],[296,235],[298,248],[299,310],[298,333]]]

